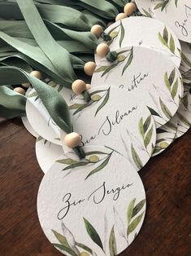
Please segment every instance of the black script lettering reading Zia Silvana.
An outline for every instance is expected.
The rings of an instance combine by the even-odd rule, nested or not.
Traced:
[[[138,106],[133,106],[131,109],[128,109],[127,112],[120,113],[119,110],[116,110],[114,118],[111,118],[109,116],[106,116],[105,121],[103,121],[102,125],[98,129],[98,132],[95,133],[95,135],[91,135],[89,139],[83,139],[83,136],[81,137],[81,143],[83,146],[85,144],[89,144],[92,140],[96,139],[99,135],[105,135],[108,136],[111,134],[113,127],[119,126],[122,121],[124,121],[125,118],[127,118],[130,114],[135,112],[137,110]]]

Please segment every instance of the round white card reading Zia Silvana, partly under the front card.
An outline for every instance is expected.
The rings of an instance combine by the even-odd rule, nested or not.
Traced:
[[[114,148],[140,170],[150,160],[156,142],[149,109],[114,87],[94,88],[89,94],[89,103],[78,96],[70,104],[73,130],[81,136],[81,144]]]

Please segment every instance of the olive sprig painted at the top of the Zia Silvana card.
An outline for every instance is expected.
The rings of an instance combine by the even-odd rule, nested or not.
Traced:
[[[100,110],[104,108],[104,106],[107,104],[108,100],[110,99],[110,90],[111,90],[111,87],[109,87],[106,90],[95,90],[89,94],[91,97],[91,100],[88,103],[72,104],[69,108],[71,110],[76,110],[73,113],[73,116],[75,116],[77,113],[80,113],[85,108],[89,108],[89,106],[91,106],[92,104],[98,104],[101,102],[101,104],[98,106],[96,110],[96,113],[95,113],[95,117],[96,117],[97,114],[100,112]]]

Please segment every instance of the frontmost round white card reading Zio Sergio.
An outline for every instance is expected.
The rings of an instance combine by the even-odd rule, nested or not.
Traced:
[[[119,152],[106,147],[84,150],[84,160],[60,157],[42,179],[39,221],[52,245],[65,255],[118,255],[140,232],[145,189]]]

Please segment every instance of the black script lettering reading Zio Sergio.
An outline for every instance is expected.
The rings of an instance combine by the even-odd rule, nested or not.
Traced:
[[[126,185],[123,184],[122,186],[119,186],[117,188],[108,189],[106,188],[106,182],[104,181],[102,185],[93,192],[91,192],[89,196],[87,196],[86,198],[82,198],[80,200],[72,199],[72,193],[67,193],[66,195],[63,196],[63,206],[62,209],[59,210],[57,218],[59,220],[62,220],[67,216],[72,207],[85,204],[85,202],[90,202],[93,203],[94,205],[99,205],[106,199],[107,196],[111,196],[111,199],[113,201],[117,201],[121,196],[121,192],[132,187],[132,185],[133,183],[129,183]]]

